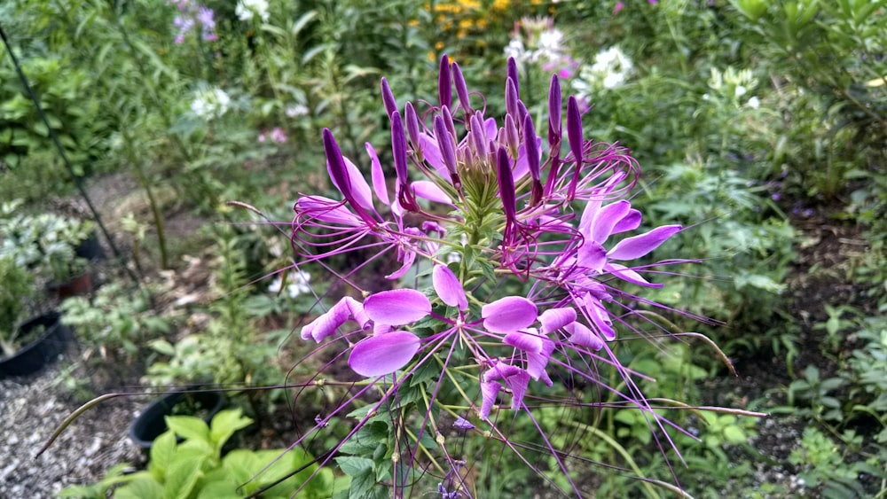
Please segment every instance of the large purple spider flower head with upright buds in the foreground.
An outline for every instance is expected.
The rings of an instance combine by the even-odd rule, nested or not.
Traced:
[[[394,178],[366,144],[367,180],[325,129],[326,168],[341,199],[302,194],[291,242],[296,267],[322,265],[361,292],[359,269],[396,260],[385,276],[393,289],[349,293],[306,324],[302,339],[347,345],[351,370],[371,385],[393,384],[380,404],[394,403],[417,370],[436,370],[427,419],[437,405],[495,431],[498,401],[530,411],[531,392],[578,378],[660,421],[610,347],[619,330],[647,329],[632,318],[658,327],[640,311],[657,305],[625,288],[661,286],[649,278],[655,264],[632,261],[681,230],[635,233],[642,217],[627,198],[637,162],[618,144],[585,138],[577,99],[568,98],[564,113],[556,74],[548,117],[534,121],[514,58],[500,121],[475,106],[486,100],[467,90],[446,56],[435,105],[397,105],[384,78],[381,95]],[[334,257],[359,263],[334,269]],[[599,377],[602,365],[619,373],[626,393]],[[459,394],[458,402],[443,400],[446,384],[457,386],[445,393]],[[318,428],[334,413],[318,418]]]

